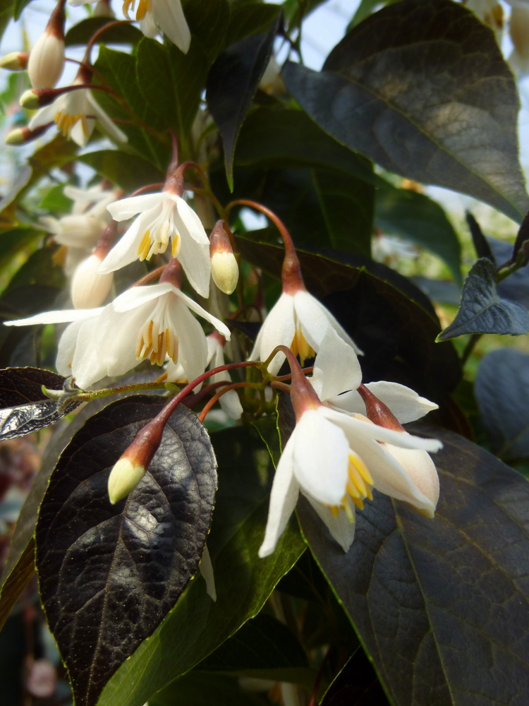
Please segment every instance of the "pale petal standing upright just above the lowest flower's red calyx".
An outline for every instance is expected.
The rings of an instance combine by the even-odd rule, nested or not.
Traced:
[[[317,352],[310,382],[320,400],[328,400],[344,390],[356,390],[362,382],[354,350],[330,327]]]

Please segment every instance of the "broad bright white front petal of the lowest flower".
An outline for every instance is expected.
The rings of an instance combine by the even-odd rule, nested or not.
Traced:
[[[346,493],[349,443],[322,409],[309,409],[296,424],[294,474],[305,494],[326,505],[339,505]]]

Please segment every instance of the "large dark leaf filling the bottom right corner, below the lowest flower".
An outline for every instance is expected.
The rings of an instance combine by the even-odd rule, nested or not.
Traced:
[[[457,434],[422,431],[444,443],[434,520],[375,491],[347,554],[306,501],[303,532],[396,706],[522,706],[529,484]]]

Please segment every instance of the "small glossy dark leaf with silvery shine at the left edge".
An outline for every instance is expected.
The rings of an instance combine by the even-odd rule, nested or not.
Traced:
[[[0,370],[0,441],[25,436],[59,421],[78,407],[70,402],[63,412],[57,410],[41,390],[62,390],[66,378],[38,368],[7,368]]]

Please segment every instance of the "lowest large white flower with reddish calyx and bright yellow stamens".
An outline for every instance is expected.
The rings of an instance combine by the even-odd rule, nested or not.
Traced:
[[[344,369],[342,361],[342,373]],[[337,371],[332,374],[337,381]],[[373,487],[433,517],[438,486],[436,492],[434,484],[420,484],[414,477],[428,476],[430,467],[414,460],[412,473],[399,462],[399,454],[406,460],[406,454],[417,450],[439,450],[441,442],[373,424],[363,414],[327,407],[299,368],[292,369],[291,400],[296,427],[277,465],[259,556],[274,551],[300,492],[343,551],[348,551],[354,539],[355,508],[363,509],[365,498],[372,499]],[[396,455],[390,453],[393,448]]]

